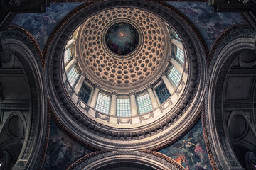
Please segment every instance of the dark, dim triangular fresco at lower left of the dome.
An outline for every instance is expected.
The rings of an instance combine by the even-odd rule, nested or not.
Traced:
[[[63,170],[75,161],[93,152],[91,149],[68,137],[58,125],[50,121],[50,136],[43,170]]]

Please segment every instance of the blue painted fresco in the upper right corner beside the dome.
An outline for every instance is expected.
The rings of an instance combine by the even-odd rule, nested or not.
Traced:
[[[174,6],[196,26],[206,42],[208,50],[213,46],[218,35],[226,28],[245,23],[240,13],[213,13],[213,7],[201,2],[173,2],[167,4]]]

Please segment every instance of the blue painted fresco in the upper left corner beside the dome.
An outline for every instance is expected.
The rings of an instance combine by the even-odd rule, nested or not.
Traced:
[[[83,3],[50,4],[50,7],[46,7],[46,13],[17,14],[13,21],[11,21],[11,24],[21,26],[28,30],[38,42],[41,51],[43,51],[43,47],[46,45],[50,33],[53,32],[58,23],[67,16],[70,11],[81,4]]]

